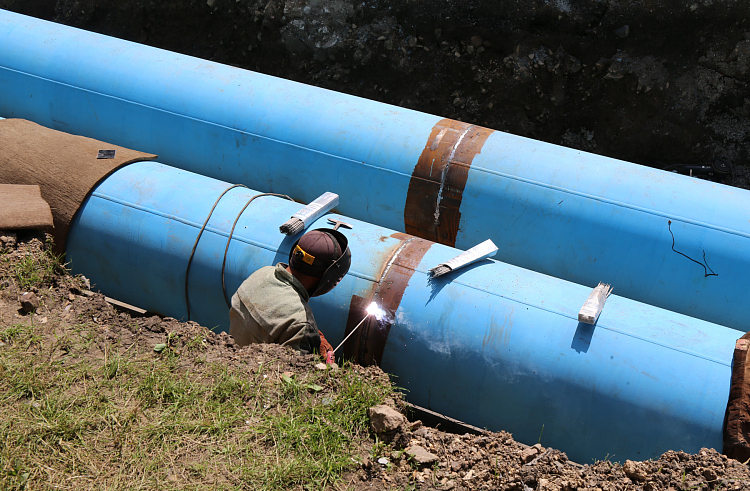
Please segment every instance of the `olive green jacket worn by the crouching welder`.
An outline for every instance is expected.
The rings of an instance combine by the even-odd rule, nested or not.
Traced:
[[[232,296],[229,334],[238,345],[277,343],[303,353],[320,347],[310,295],[286,266],[259,269]]]

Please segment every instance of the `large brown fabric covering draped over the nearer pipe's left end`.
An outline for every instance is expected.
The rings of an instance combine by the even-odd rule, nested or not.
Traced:
[[[115,158],[97,159],[99,150],[116,150]],[[39,185],[52,209],[58,251],[65,250],[70,221],[97,184],[123,165],[155,158],[23,119],[0,120],[0,183]]]

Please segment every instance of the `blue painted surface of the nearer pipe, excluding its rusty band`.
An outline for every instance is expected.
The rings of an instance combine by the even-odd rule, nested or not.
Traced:
[[[229,184],[154,162],[126,166],[101,183],[74,219],[67,244],[73,271],[104,293],[185,317],[184,275],[208,211]],[[255,191],[219,202],[192,263],[193,319],[227,328],[221,264],[228,231]],[[284,261],[294,237],[278,226],[299,209],[279,198],[253,201],[229,248],[227,288]],[[366,296],[403,234],[352,223],[352,267],[311,306],[326,337],[344,336],[353,295]],[[398,237],[401,237],[399,239]],[[433,244],[406,286],[382,367],[415,404],[522,442],[562,449],[579,462],[657,457],[669,449],[720,449],[735,330],[611,296],[596,327],[577,322],[590,289],[484,260],[428,281],[455,256]],[[399,259],[400,260],[400,259]]]

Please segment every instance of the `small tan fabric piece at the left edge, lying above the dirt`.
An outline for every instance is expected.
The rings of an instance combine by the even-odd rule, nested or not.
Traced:
[[[51,227],[52,211],[39,186],[0,184],[0,229]]]

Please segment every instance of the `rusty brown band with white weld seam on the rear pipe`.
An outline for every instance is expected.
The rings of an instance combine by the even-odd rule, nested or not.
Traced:
[[[469,168],[492,132],[452,119],[443,119],[432,128],[409,181],[406,233],[456,245]]]

